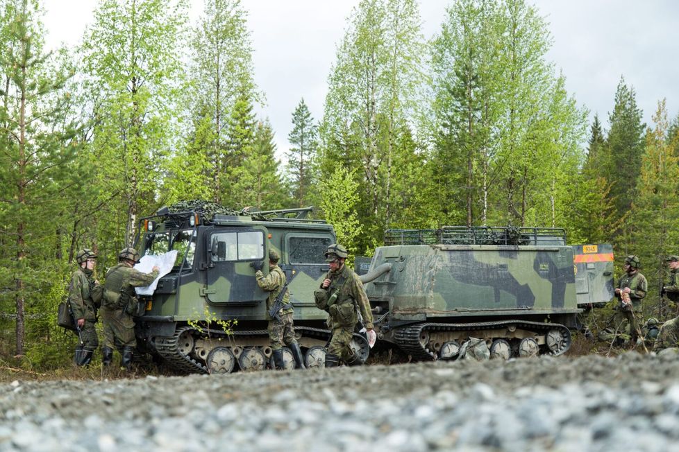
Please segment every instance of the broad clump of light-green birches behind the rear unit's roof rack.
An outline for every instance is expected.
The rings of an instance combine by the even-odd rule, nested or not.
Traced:
[[[550,46],[525,1],[449,8],[432,44],[439,223],[564,222],[586,121],[546,61]]]

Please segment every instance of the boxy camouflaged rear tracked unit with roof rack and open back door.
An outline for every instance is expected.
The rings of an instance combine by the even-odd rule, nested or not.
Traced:
[[[587,304],[612,297],[612,250],[606,246],[610,259],[596,246],[576,248],[585,264],[587,254],[597,254],[576,285],[564,229],[387,231],[370,269],[387,265],[390,271],[365,286],[378,311],[378,338],[416,360],[453,359],[471,338],[484,340],[494,358],[563,354],[581,312],[578,299]]]

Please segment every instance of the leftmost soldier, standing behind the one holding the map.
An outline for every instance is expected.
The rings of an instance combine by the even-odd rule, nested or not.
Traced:
[[[74,361],[77,365],[88,365],[92,361],[94,350],[99,347],[97,329],[97,308],[101,304],[101,286],[92,277],[97,254],[89,248],[83,248],[76,254],[78,269],[73,272],[69,284],[68,299],[73,317],[78,324],[81,344],[76,347]]]

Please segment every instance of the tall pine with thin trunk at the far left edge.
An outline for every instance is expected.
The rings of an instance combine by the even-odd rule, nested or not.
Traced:
[[[63,206],[59,187],[79,148],[69,121],[72,73],[60,55],[44,51],[41,12],[33,1],[3,3],[0,35],[0,295],[15,304],[16,354],[24,355],[26,309],[44,312],[42,290],[55,278],[49,263],[58,249],[56,227],[46,218]],[[6,237],[11,237],[8,240]],[[47,265],[46,265],[47,263]]]

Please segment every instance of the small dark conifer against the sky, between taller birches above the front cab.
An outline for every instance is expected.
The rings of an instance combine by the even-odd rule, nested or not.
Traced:
[[[312,198],[312,184],[317,180],[317,147],[318,127],[311,116],[311,112],[304,103],[292,113],[293,128],[287,139],[292,148],[287,155],[287,174],[290,177],[292,197],[296,205],[303,207]]]

